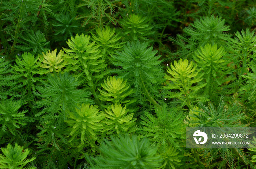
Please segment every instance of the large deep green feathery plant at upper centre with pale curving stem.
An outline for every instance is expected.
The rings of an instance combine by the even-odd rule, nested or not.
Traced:
[[[158,61],[161,55],[155,56],[157,51],[153,51],[153,47],[147,48],[147,45],[147,42],[127,42],[123,51],[112,56],[113,64],[122,69],[113,69],[111,72],[133,84],[140,104],[144,102],[142,91],[151,103],[158,104],[152,96],[153,93],[158,93],[158,85],[163,82],[161,61]]]

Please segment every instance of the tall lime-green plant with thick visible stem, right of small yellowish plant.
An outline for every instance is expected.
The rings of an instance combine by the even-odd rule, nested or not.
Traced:
[[[75,71],[76,80],[79,79],[79,83],[87,80],[88,86],[92,88],[94,80],[97,81],[98,78],[103,78],[107,74],[104,71],[107,65],[103,64],[104,59],[100,54],[101,51],[97,49],[98,46],[95,45],[95,41],[90,42],[90,36],[83,34],[76,34],[75,38],[71,37],[67,44],[70,49],[63,48],[67,53],[64,58],[69,64],[66,71]],[[93,94],[95,93],[95,89],[91,89],[91,91]],[[95,94],[94,96],[97,98]]]

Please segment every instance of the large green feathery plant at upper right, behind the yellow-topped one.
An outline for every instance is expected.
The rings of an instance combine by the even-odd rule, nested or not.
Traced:
[[[171,41],[180,46],[180,49],[173,54],[178,55],[181,58],[191,58],[191,55],[200,46],[205,46],[207,43],[211,45],[217,44],[224,46],[226,41],[231,38],[231,35],[225,31],[230,30],[229,26],[225,26],[225,19],[221,17],[203,16],[200,19],[196,19],[194,23],[191,23],[190,27],[184,28],[184,35],[177,35],[177,38],[169,37]],[[189,37],[188,37],[189,36]]]

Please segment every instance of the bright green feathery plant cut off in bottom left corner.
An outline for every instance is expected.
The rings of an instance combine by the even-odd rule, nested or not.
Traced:
[[[27,163],[35,160],[35,157],[31,157],[27,160],[27,155],[29,154],[29,149],[23,149],[23,146],[20,147],[18,143],[15,143],[15,146],[9,143],[6,148],[2,148],[3,154],[0,154],[0,168],[1,169],[36,169],[33,166],[27,166]],[[25,168],[24,168],[25,167]]]

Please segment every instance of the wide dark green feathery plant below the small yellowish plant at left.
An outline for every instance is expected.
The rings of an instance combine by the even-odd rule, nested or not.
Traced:
[[[43,109],[35,116],[44,114],[44,121],[57,119],[56,126],[64,125],[63,120],[67,119],[67,110],[77,107],[78,103],[93,103],[90,92],[77,89],[78,82],[67,72],[64,74],[48,74],[47,82],[42,82],[44,86],[37,86],[38,92],[35,95],[42,98],[36,102],[35,108]]]

